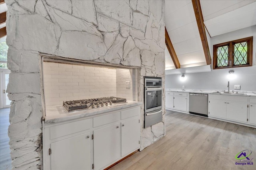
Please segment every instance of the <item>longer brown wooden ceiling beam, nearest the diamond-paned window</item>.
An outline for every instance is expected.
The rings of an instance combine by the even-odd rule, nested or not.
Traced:
[[[203,49],[204,49],[204,56],[206,59],[206,64],[209,65],[211,64],[211,55],[210,55],[210,50],[209,50],[209,45],[206,37],[206,31],[204,27],[204,18],[200,6],[200,0],[192,0],[195,16],[196,16],[196,23],[198,26],[199,34],[201,37]]]

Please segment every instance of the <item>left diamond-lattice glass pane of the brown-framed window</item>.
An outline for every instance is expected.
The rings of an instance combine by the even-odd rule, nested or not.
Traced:
[[[218,47],[217,66],[228,66],[228,45]]]

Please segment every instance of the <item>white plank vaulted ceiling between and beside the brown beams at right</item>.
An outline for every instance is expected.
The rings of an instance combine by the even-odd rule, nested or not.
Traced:
[[[166,0],[165,5],[166,29],[180,68],[206,65],[192,0]],[[256,25],[256,0],[200,0],[200,7],[209,46],[210,37]],[[174,68],[166,49],[166,70]]]

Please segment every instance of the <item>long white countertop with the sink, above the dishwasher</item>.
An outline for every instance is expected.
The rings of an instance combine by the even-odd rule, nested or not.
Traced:
[[[199,90],[199,89],[176,89],[176,88],[166,88],[166,92],[184,92],[184,93],[201,93],[201,94],[220,94],[220,95],[230,95],[230,96],[246,96],[246,97],[256,97],[256,92],[250,91],[234,91],[230,90],[229,93],[224,92],[224,90]],[[237,93],[236,93],[237,92]]]

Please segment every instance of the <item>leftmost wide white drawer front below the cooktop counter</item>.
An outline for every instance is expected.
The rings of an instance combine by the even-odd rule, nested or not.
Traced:
[[[50,127],[50,139],[55,139],[58,137],[90,129],[90,122],[90,119],[85,119],[80,121],[73,121],[71,123],[66,123],[62,125],[52,126]]]

